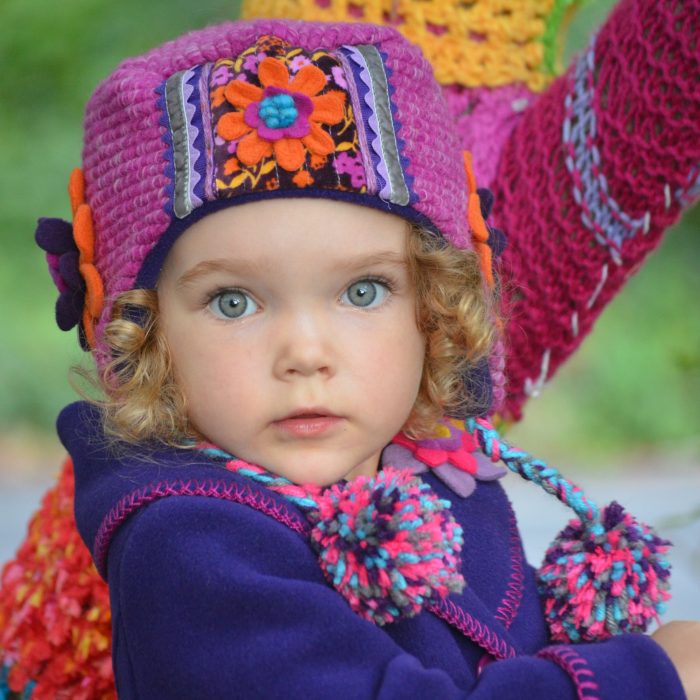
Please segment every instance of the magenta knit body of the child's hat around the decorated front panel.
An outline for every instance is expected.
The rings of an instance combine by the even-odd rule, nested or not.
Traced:
[[[164,210],[169,181],[164,174],[166,145],[156,88],[177,71],[235,57],[264,34],[304,49],[377,46],[390,71],[402,155],[408,159],[406,170],[419,198],[414,209],[454,244],[470,244],[459,138],[432,69],[420,50],[398,32],[373,25],[277,20],[227,23],[192,32],[124,61],[87,106],[83,151],[87,201],[95,220],[96,267],[107,299],[96,329],[98,362],[111,301],[133,288],[145,256],[170,224]]]

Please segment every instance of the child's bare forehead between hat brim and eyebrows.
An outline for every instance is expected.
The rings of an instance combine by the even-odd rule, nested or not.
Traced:
[[[366,206],[315,198],[270,199],[235,205],[188,228],[165,268],[181,271],[212,257],[265,260],[285,266],[403,254],[409,224]],[[309,268],[309,273],[313,268]]]

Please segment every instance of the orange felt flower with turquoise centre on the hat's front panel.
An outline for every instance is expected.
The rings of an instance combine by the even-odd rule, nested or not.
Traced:
[[[267,57],[258,66],[262,87],[244,80],[232,80],[224,90],[226,100],[237,111],[224,114],[217,133],[226,141],[241,139],[238,159],[252,166],[263,158],[275,157],[284,170],[299,170],[307,151],[327,156],[335,142],[322,125],[342,121],[345,94],[330,91],[319,95],[326,85],[320,68],[306,65],[291,78],[287,66]]]

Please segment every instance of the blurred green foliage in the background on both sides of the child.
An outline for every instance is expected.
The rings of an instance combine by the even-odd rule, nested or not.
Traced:
[[[69,218],[65,186],[80,162],[83,106],[125,56],[188,29],[235,18],[225,0],[2,0],[0,3],[0,433],[50,429],[84,361],[52,319],[55,292],[32,234]],[[605,16],[591,2],[569,52]],[[700,425],[700,212],[687,216],[611,305],[592,337],[528,409],[529,432],[595,457],[697,439]],[[539,427],[538,427],[539,426]],[[532,443],[532,441],[528,441]]]

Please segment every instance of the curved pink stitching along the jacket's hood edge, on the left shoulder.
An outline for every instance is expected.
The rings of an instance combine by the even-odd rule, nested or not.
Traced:
[[[309,525],[306,521],[293,515],[283,504],[276,503],[273,498],[260,491],[253,491],[248,485],[238,486],[227,481],[213,480],[202,482],[196,479],[163,481],[137,489],[122,497],[102,520],[95,535],[93,558],[103,578],[107,578],[107,553],[117,529],[139,508],[170,496],[205,496],[242,503],[273,517],[294,532],[308,536]]]

